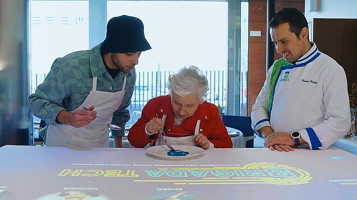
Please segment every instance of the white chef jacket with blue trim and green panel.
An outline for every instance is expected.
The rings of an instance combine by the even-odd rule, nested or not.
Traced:
[[[276,60],[252,108],[252,128],[300,132],[310,149],[327,148],[350,127],[343,68],[316,44],[296,64]]]

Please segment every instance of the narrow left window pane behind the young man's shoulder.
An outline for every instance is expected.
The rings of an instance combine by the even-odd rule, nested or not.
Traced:
[[[88,49],[89,12],[85,0],[32,0],[30,8],[33,93],[57,57]]]

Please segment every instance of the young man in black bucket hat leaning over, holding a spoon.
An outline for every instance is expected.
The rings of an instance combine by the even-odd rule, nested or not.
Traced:
[[[122,15],[108,21],[102,43],[57,58],[45,81],[29,96],[28,110],[48,124],[39,132],[46,145],[109,147],[109,129],[96,114],[122,128],[112,130],[116,147],[121,147],[130,119],[134,66],[148,49],[142,21]]]

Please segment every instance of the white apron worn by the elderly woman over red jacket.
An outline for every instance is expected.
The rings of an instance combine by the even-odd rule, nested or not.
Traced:
[[[158,134],[158,138],[156,140],[155,145],[166,145],[164,136],[162,135],[163,125],[165,124],[166,116],[167,116],[167,114],[164,114],[162,116],[162,127]],[[190,135],[190,136],[185,136],[185,137],[168,137],[168,136],[166,136],[167,141],[170,144],[182,144],[182,145],[196,146],[195,142],[193,142],[192,139],[195,136],[199,135],[200,122],[201,122],[201,120],[197,120],[196,128],[195,128],[195,135]]]

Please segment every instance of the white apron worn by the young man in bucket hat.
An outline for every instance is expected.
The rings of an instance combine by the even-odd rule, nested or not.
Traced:
[[[113,112],[117,110],[125,93],[126,76],[121,91],[107,92],[97,90],[97,77],[93,77],[93,87],[83,103],[70,112],[94,105],[97,115],[111,123]],[[77,128],[67,124],[48,124],[47,146],[71,147],[109,147],[109,128],[99,118]]]

